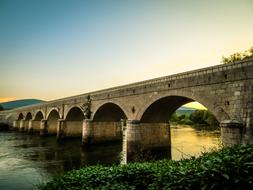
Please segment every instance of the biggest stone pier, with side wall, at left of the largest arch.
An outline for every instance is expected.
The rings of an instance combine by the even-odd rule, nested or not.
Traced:
[[[125,162],[145,159],[158,151],[171,157],[169,123],[140,123],[138,120],[128,120],[123,138]]]

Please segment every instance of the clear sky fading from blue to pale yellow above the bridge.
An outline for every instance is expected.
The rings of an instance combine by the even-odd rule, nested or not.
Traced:
[[[53,100],[220,64],[253,0],[0,0],[0,102]]]

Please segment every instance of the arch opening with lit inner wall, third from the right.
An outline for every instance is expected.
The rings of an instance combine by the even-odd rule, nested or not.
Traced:
[[[72,107],[65,118],[64,135],[71,137],[81,137],[83,120],[85,119],[83,111],[79,107]]]

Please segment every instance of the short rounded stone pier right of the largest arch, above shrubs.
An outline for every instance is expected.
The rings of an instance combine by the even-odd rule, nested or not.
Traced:
[[[220,123],[221,140],[224,146],[242,143],[243,125],[236,120],[225,120]]]

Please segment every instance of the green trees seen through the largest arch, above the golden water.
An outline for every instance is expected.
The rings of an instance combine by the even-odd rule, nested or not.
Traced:
[[[172,124],[190,125],[196,129],[216,130],[219,128],[219,122],[208,110],[195,110],[190,114],[181,115],[174,113],[170,122]]]

